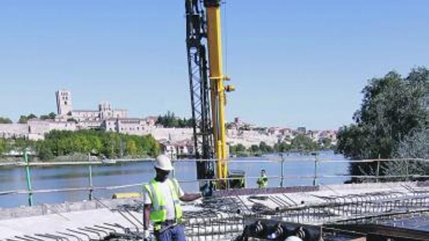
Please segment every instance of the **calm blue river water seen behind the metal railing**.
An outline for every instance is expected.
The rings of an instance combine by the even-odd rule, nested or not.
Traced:
[[[269,163],[256,161],[266,161],[268,159],[280,159],[279,156],[233,158],[229,168],[231,170],[244,170],[247,177],[259,175],[261,169],[267,171],[269,176],[281,175],[280,163]],[[331,151],[319,152],[318,158],[321,160],[344,160],[342,155],[336,155]],[[284,154],[286,161],[283,166],[284,185],[312,185],[314,175],[314,156],[302,155],[299,153]],[[195,180],[195,162],[176,162],[175,177],[180,181]],[[347,175],[348,164],[345,162],[318,163],[318,176],[321,175]],[[105,164],[92,167],[94,186],[127,185],[148,182],[153,179],[155,171],[152,162],[128,162],[121,164]],[[299,176],[300,178],[293,178]],[[318,178],[318,184],[340,184],[347,178]],[[87,166],[61,166],[61,167],[31,167],[31,182],[34,190],[78,188],[89,185],[89,169]],[[279,186],[280,179],[270,178],[269,186]],[[183,182],[182,188],[185,191],[197,191],[196,182]],[[246,187],[256,187],[256,180],[246,180]],[[0,192],[8,190],[25,190],[25,169],[23,167],[0,168]],[[116,192],[139,192],[140,187],[126,187],[117,190],[95,190],[93,195],[100,198],[109,198]],[[88,199],[88,191],[36,193],[34,203],[62,203],[65,201],[81,201]],[[27,205],[28,199],[25,194],[0,195],[0,207],[14,207]]]

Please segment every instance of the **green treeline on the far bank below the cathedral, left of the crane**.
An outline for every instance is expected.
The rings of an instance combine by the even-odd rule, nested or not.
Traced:
[[[4,144],[2,144],[4,143]],[[160,152],[158,142],[151,136],[127,135],[100,130],[52,130],[44,140],[28,141],[0,139],[0,150],[31,148],[42,160],[76,153],[117,157],[156,156]]]

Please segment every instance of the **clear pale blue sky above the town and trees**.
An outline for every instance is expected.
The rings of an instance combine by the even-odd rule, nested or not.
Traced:
[[[361,89],[429,67],[427,0],[227,0],[227,119],[337,129]],[[225,42],[224,42],[225,43]],[[101,101],[131,116],[190,116],[184,0],[1,0],[0,115]]]

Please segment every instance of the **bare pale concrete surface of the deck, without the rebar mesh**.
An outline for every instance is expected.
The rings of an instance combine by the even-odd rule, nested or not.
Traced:
[[[412,189],[410,189],[410,187]],[[347,185],[321,185],[316,191],[310,192],[292,192],[284,194],[270,194],[270,196],[278,195],[285,197],[285,195],[292,201],[291,206],[303,206],[312,204],[323,204],[326,198],[333,196],[343,196],[349,194],[375,194],[380,192],[398,192],[409,193],[410,190],[427,190],[426,187],[419,187],[416,182],[397,182],[397,183],[370,183],[370,184],[347,184]],[[264,195],[258,195],[264,196]],[[249,196],[241,196],[240,199],[245,205],[252,206],[255,203],[260,203],[275,209],[279,206],[272,198],[267,200],[252,200],[248,199]],[[133,200],[104,200],[103,204],[109,207],[115,207],[118,204],[133,204]],[[201,203],[201,202],[199,202]],[[293,204],[295,203],[295,204]],[[192,211],[201,209],[200,207],[185,206],[185,211]],[[142,220],[141,213],[131,212],[137,219]],[[128,215],[128,214],[127,214]],[[133,219],[130,215],[127,216]],[[203,217],[202,217],[203,218]],[[133,220],[134,223],[138,222]],[[94,227],[95,225],[104,225],[105,227],[114,228],[117,232],[124,232],[120,227],[106,226],[105,223],[119,224],[123,227],[135,230],[136,227],[127,221],[117,211],[111,211],[103,205],[95,201],[79,202],[79,203],[66,203],[55,205],[41,205],[36,207],[20,207],[10,209],[0,209],[0,240],[15,240],[22,241],[16,236],[25,237],[39,237],[41,240],[49,240],[47,238],[40,238],[39,234],[57,234],[59,232],[68,232],[72,230],[81,230],[85,227]],[[138,224],[138,228],[142,226]],[[81,240],[101,239],[106,234],[103,232],[88,232],[86,235],[79,235],[75,233]],[[53,240],[53,239],[51,239]],[[69,240],[78,240],[77,238],[69,237]]]

